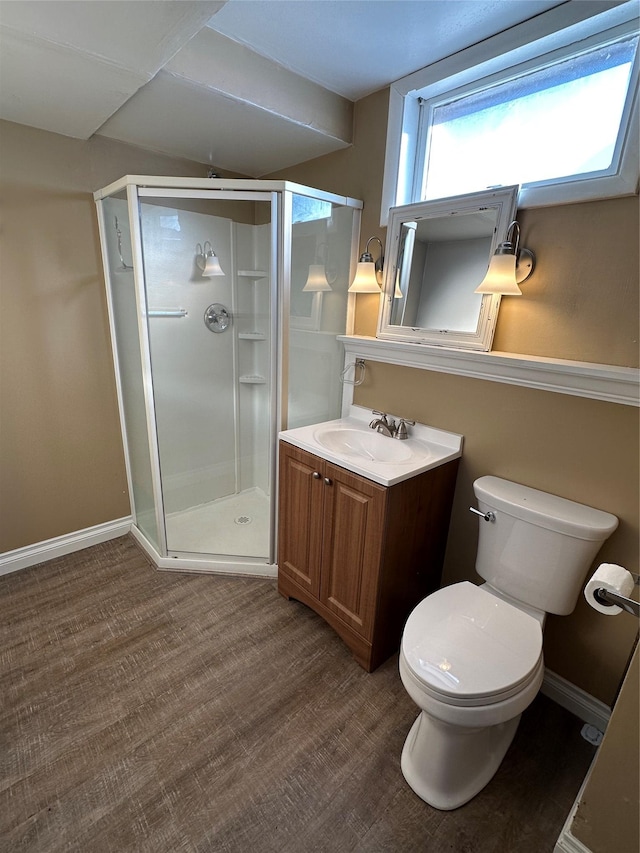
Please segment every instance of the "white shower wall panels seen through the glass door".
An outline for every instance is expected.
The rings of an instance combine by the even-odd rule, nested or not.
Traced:
[[[238,381],[248,369],[238,332],[252,322],[251,291],[256,288],[237,272],[239,262],[255,267],[260,247],[256,227],[159,204],[143,203],[141,209],[165,512],[183,511],[256,486],[266,490],[268,468],[264,464],[261,469],[260,457],[265,456],[268,429],[262,450],[256,435],[261,424],[252,427],[251,410],[261,411],[267,385],[245,387]],[[202,277],[196,245],[207,240],[224,276]],[[268,270],[268,257],[263,260]],[[262,290],[266,302],[255,307],[268,314],[268,284]],[[260,290],[256,292],[260,300]],[[225,332],[213,333],[204,323],[212,303],[223,304],[232,314],[232,325]],[[167,309],[187,314],[153,316]],[[264,326],[268,330],[268,322]],[[268,340],[260,341],[265,344]],[[264,410],[268,412],[266,403]]]

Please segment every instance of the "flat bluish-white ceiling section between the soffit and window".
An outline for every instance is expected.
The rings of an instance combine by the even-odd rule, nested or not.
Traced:
[[[229,0],[209,26],[357,101],[564,0]]]

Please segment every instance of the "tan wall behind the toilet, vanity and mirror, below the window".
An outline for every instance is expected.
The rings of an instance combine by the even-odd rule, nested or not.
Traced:
[[[356,108],[354,146],[278,177],[364,201],[361,245],[379,227],[387,92]],[[494,349],[604,364],[638,364],[638,199],[522,211],[523,245],[537,256],[524,296],[503,299]],[[356,333],[375,335],[378,297],[359,296]],[[462,433],[444,581],[477,581],[477,521],[468,512],[482,474],[615,513],[616,533],[598,561],[638,572],[638,410],[377,362],[356,402]],[[607,617],[581,598],[569,617],[548,620],[549,668],[611,704],[636,636],[634,620]]]

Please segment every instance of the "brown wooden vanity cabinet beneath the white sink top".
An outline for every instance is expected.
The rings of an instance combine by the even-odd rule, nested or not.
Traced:
[[[286,441],[279,465],[278,590],[371,672],[440,585],[458,460],[388,487]]]

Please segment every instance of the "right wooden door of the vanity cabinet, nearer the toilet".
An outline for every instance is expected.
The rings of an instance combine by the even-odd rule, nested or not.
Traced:
[[[325,463],[320,601],[365,639],[373,633],[387,490]]]

